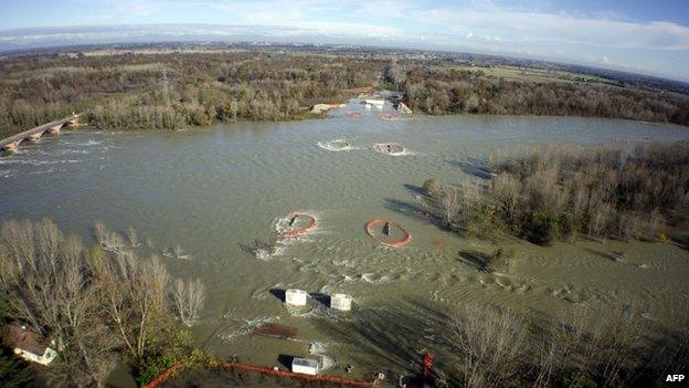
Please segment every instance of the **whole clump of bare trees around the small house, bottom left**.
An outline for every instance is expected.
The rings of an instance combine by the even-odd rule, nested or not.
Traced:
[[[176,324],[198,317],[202,283],[173,280],[159,259],[134,252],[136,238],[116,234],[98,227],[98,244],[86,247],[49,220],[0,227],[2,324],[55,339],[56,359],[38,374],[50,386],[104,387],[123,364],[144,385],[177,359],[202,357]]]

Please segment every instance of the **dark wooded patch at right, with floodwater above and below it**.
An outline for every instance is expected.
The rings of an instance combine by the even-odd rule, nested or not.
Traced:
[[[488,183],[424,183],[435,220],[457,231],[505,230],[538,244],[594,238],[667,241],[689,221],[689,145],[654,144],[627,154],[556,147],[491,157]]]

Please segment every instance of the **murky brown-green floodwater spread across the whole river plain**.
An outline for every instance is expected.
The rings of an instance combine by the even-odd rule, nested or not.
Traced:
[[[348,109],[362,112],[348,118]],[[139,231],[176,276],[200,277],[208,301],[192,327],[220,358],[279,365],[325,352],[352,376],[414,370],[438,347],[444,316],[457,304],[509,306],[532,317],[563,308],[637,302],[669,327],[689,304],[689,252],[674,244],[582,241],[540,248],[512,239],[480,241],[420,217],[417,188],[486,179],[496,149],[689,140],[689,128],[577,117],[447,116],[379,118],[352,103],[321,120],[242,123],[177,133],[67,132],[0,158],[0,219],[51,218],[91,238],[94,221]],[[333,139],[349,146],[324,147]],[[373,149],[398,143],[402,155]],[[319,146],[320,145],[320,146]],[[293,211],[312,214],[311,234],[282,240]],[[365,234],[372,218],[413,235],[403,248]],[[176,245],[181,258],[169,254]],[[471,265],[499,247],[516,251],[500,273]],[[258,250],[256,250],[258,248]],[[617,253],[614,253],[617,252]],[[615,256],[623,252],[622,261]],[[163,253],[168,253],[163,255]],[[279,300],[288,287],[315,297],[303,310]],[[350,313],[318,294],[348,293]],[[293,340],[252,337],[264,322],[298,329]],[[447,360],[448,361],[448,360]],[[333,373],[339,373],[335,370]],[[123,376],[115,386],[127,386]]]

